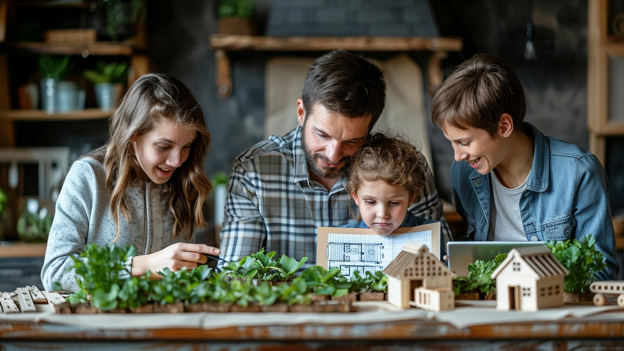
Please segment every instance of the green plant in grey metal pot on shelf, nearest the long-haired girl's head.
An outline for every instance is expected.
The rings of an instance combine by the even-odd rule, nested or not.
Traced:
[[[84,77],[94,84],[97,107],[103,110],[114,109],[128,78],[128,63],[106,63],[100,60],[94,70],[84,71]]]

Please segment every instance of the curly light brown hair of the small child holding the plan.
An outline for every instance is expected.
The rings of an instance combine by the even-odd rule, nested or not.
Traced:
[[[410,197],[424,182],[424,163],[415,146],[401,137],[375,133],[351,158],[345,188],[358,192],[364,181],[401,185]]]

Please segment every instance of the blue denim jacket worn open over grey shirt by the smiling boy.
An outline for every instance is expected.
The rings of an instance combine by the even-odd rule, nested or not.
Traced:
[[[620,267],[615,260],[615,235],[608,197],[608,180],[592,153],[524,123],[535,138],[533,165],[527,189],[520,197],[520,215],[527,240],[596,239],[607,268],[600,280],[614,279]],[[487,240],[490,220],[490,175],[481,175],[468,162],[454,162],[451,178],[457,212],[466,220],[470,240]]]

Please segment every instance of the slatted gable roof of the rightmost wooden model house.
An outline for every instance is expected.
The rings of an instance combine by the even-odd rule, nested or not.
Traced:
[[[496,279],[496,276],[502,272],[503,269],[514,260],[523,260],[531,267],[535,273],[535,279],[542,279],[545,277],[554,277],[556,275],[568,275],[570,272],[563,267],[561,262],[555,259],[550,249],[545,246],[532,246],[532,247],[517,247],[512,249],[507,254],[505,259],[494,273],[492,273],[492,279]]]

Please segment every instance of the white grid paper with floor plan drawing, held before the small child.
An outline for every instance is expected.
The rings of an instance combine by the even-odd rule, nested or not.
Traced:
[[[328,269],[340,267],[344,277],[354,270],[383,270],[401,252],[408,241],[423,244],[431,251],[431,230],[397,235],[328,234],[326,256]]]

